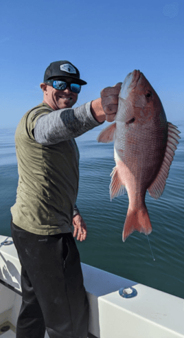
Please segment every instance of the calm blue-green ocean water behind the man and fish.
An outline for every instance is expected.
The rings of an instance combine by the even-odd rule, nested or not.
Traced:
[[[80,150],[77,205],[88,228],[86,241],[77,245],[85,264],[184,298],[184,121],[172,123],[181,131],[181,139],[165,190],[157,201],[146,194],[152,252],[148,237],[139,232],[122,241],[128,195],[110,201],[113,143],[96,141],[105,125],[76,139]],[[0,234],[7,236],[11,236],[10,207],[18,182],[14,132],[15,128],[0,130]]]

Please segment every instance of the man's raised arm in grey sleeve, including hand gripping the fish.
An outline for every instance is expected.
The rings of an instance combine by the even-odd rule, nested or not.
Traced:
[[[101,98],[83,104],[78,108],[60,109],[41,116],[36,121],[34,137],[43,146],[78,137],[84,132],[113,121],[117,112],[121,83],[104,88]]]

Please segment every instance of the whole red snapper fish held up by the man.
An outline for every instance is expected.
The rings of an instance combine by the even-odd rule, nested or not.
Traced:
[[[115,122],[97,137],[98,142],[114,141],[111,200],[128,192],[123,241],[135,230],[145,235],[152,232],[146,190],[154,199],[162,195],[179,133],[167,122],[161,100],[143,73],[130,72],[119,92]]]

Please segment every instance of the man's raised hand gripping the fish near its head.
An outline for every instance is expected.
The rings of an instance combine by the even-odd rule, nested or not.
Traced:
[[[118,96],[121,86],[122,82],[119,82],[113,87],[106,87],[102,89],[102,108],[106,115],[106,121],[108,122],[113,122],[115,119],[118,108]]]

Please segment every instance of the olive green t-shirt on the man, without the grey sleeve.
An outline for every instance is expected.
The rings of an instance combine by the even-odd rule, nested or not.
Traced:
[[[34,139],[36,121],[51,112],[41,103],[16,128],[19,184],[11,208],[16,226],[38,235],[71,232],[78,194],[78,147],[74,139],[43,146]]]

